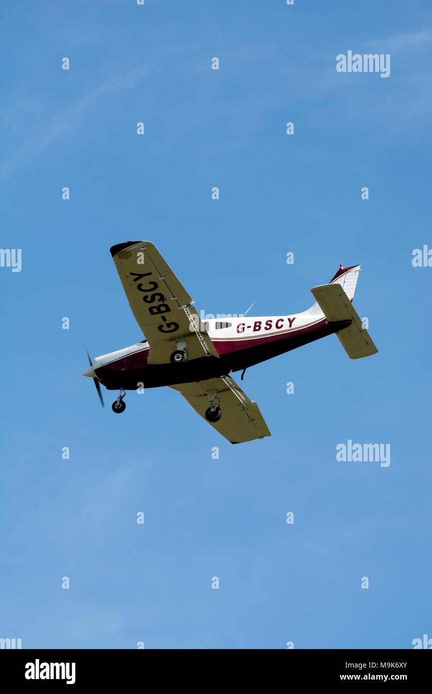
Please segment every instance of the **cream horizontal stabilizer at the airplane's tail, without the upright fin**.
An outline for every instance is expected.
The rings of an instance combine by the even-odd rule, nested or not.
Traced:
[[[368,331],[363,328],[360,316],[340,285],[321,285],[313,287],[311,292],[329,323],[352,321],[347,328],[336,332],[349,359],[361,359],[378,352]]]

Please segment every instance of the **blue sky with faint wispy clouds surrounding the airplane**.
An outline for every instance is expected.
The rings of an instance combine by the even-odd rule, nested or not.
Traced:
[[[432,636],[432,269],[411,262],[432,246],[429,2],[52,0],[8,3],[1,26],[1,246],[22,269],[0,268],[0,636]],[[390,53],[390,77],[338,74],[348,50]],[[143,339],[109,251],[129,239],[213,314],[305,310],[361,263],[354,306],[379,353],[352,361],[330,336],[248,369],[263,441],[232,446],[169,389],[128,392],[116,416],[81,376],[83,341],[95,357]],[[390,466],[337,462],[348,439],[390,443]]]

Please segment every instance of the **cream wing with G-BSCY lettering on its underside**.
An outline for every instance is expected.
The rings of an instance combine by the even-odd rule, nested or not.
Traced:
[[[189,359],[218,357],[191,307],[192,298],[153,244],[128,241],[110,251],[132,313],[150,345],[149,364],[168,364],[175,349],[187,349]]]

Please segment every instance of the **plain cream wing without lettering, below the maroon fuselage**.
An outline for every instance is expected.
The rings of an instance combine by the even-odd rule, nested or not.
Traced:
[[[169,386],[182,393],[195,412],[205,418],[209,394],[219,400],[222,417],[211,426],[231,443],[243,443],[271,436],[257,403],[249,400],[230,376]],[[206,419],[207,421],[207,419]]]

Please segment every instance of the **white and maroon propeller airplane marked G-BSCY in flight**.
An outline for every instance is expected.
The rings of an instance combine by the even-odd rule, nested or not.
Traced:
[[[271,436],[257,403],[243,393],[231,373],[336,334],[350,359],[377,353],[352,306],[360,265],[336,272],[327,285],[313,287],[315,303],[290,316],[245,316],[200,320],[193,300],[155,246],[128,241],[110,248],[132,314],[145,339],[89,359],[83,375],[119,390],[112,403],[124,412],[127,390],[168,386],[231,443]]]

